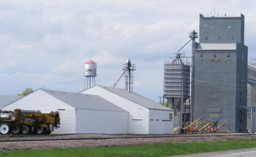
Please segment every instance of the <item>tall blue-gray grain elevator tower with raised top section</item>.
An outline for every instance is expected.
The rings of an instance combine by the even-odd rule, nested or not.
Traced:
[[[247,46],[245,16],[200,14],[199,43],[195,44],[193,119],[208,118],[224,130],[246,132]]]

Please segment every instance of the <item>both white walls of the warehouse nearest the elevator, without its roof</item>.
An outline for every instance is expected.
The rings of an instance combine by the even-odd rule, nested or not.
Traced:
[[[103,88],[100,86],[89,88],[83,91],[83,93],[100,95],[102,98],[128,111],[129,112],[128,134],[172,134],[173,133],[173,129],[171,129],[173,127],[173,121],[165,121],[165,120],[168,120],[169,118],[168,117],[169,114],[166,114],[166,113],[173,113],[173,110],[167,110],[167,111],[154,110],[154,109],[150,110],[142,105],[137,104],[136,102],[130,101],[129,99],[126,99],[123,96],[110,92],[106,88]],[[153,119],[153,123],[151,123],[152,122],[151,119]],[[149,126],[149,123],[151,123],[150,126]]]

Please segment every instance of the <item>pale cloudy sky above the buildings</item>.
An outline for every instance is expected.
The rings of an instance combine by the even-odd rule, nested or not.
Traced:
[[[0,0],[0,95],[43,86],[79,92],[89,59],[96,84],[113,86],[129,58],[137,68],[133,91],[158,101],[164,61],[199,31],[199,14],[214,8],[219,16],[245,15],[248,61],[256,58],[254,1]],[[181,52],[190,56],[191,43]]]

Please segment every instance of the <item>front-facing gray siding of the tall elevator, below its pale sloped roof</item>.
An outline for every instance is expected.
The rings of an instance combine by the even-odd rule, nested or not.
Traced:
[[[203,59],[200,58],[203,54]],[[236,52],[219,52],[211,60],[214,51],[196,51],[195,53],[195,78],[194,78],[194,120],[200,117],[210,118],[208,109],[220,109],[221,119],[219,124],[230,118],[225,124],[225,131],[235,132],[236,113]],[[216,58],[217,58],[216,57]]]

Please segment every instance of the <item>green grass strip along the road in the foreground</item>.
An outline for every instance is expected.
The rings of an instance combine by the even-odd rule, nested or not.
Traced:
[[[15,150],[2,152],[0,156],[174,156],[222,150],[242,149],[256,147],[256,139],[249,142],[248,139],[229,141],[204,141],[189,143],[150,144],[143,146],[123,146],[108,148],[68,148],[68,149],[46,149],[46,150]]]

